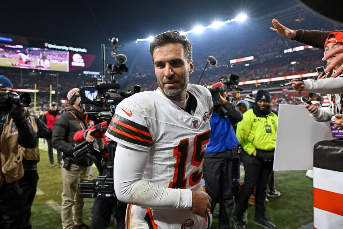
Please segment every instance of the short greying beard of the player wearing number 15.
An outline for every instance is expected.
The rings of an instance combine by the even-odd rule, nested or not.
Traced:
[[[166,87],[165,83],[162,82],[162,80],[159,80],[159,78],[157,77],[158,87],[161,88],[163,93],[169,97],[178,96],[185,91],[185,88],[187,88],[187,84],[189,82],[189,70],[184,69],[180,77],[176,77],[175,75],[173,75],[173,77],[168,78],[168,81],[177,80],[179,82],[179,85],[176,87]]]

